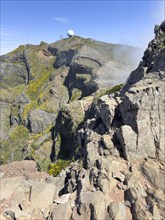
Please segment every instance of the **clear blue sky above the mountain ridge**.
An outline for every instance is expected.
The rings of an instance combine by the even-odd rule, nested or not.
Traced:
[[[82,37],[145,48],[155,24],[165,19],[164,0],[8,1],[1,0],[1,54],[19,45]]]

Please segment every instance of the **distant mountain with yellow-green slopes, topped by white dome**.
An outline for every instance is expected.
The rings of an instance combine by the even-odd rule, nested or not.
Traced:
[[[32,145],[39,148],[45,139],[51,149],[50,129],[64,104],[123,83],[139,53],[73,36],[22,45],[1,56],[1,163],[26,158]]]

